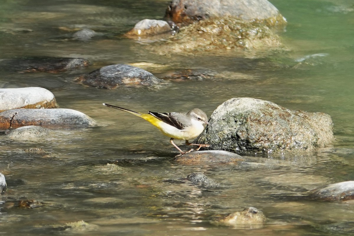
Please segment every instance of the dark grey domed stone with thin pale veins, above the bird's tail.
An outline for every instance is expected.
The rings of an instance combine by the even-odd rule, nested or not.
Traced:
[[[81,84],[114,89],[121,86],[155,86],[163,82],[150,72],[132,65],[108,65],[76,79]]]

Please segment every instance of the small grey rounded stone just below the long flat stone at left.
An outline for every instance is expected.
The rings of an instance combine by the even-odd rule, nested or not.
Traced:
[[[41,126],[22,126],[16,129],[12,129],[6,134],[6,138],[13,140],[28,140],[28,139],[38,139],[47,137],[52,134],[53,131],[48,128]]]

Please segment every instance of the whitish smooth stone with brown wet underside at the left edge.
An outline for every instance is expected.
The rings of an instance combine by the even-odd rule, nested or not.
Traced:
[[[56,108],[53,93],[45,88],[0,88],[0,112],[16,108]]]

